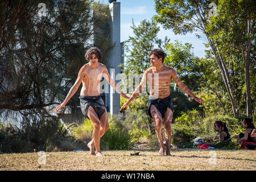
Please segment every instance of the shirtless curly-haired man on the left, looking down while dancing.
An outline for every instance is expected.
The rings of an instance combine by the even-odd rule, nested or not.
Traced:
[[[79,75],[75,84],[69,90],[64,102],[56,107],[55,111],[64,107],[69,99],[76,93],[82,83],[82,89],[80,92],[80,105],[82,113],[86,118],[89,118],[93,123],[93,139],[88,143],[91,155],[102,156],[100,150],[100,138],[109,129],[108,115],[104,106],[104,101],[100,96],[100,82],[102,76],[109,82],[109,84],[121,94],[122,97],[129,99],[122,90],[110,77],[108,69],[104,64],[98,63],[101,60],[102,55],[100,49],[93,47],[90,48],[85,54],[86,60],[90,60],[79,71]],[[94,146],[96,152],[94,152]]]

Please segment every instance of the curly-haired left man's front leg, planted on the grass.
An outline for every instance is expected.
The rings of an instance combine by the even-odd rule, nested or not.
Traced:
[[[94,146],[96,150],[97,156],[102,156],[101,150],[100,150],[100,119],[98,118],[98,115],[94,111],[93,107],[89,106],[87,115],[93,123],[93,140],[94,140]],[[89,143],[87,145],[90,148],[90,154],[94,155],[94,147],[92,147]]]

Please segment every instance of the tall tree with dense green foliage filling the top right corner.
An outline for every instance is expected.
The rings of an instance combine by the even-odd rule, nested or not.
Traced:
[[[222,54],[233,55],[243,61],[244,80],[246,88],[246,115],[251,117],[251,84],[250,65],[255,68],[255,11],[254,1],[226,1],[218,2],[218,13],[211,18],[208,32],[219,32],[211,35],[215,42],[219,42]]]

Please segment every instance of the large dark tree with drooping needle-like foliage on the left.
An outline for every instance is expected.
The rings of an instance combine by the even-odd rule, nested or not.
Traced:
[[[109,21],[109,10],[93,1],[44,1],[46,16],[39,16],[39,3],[0,3],[0,109],[42,109],[64,100],[93,35]]]

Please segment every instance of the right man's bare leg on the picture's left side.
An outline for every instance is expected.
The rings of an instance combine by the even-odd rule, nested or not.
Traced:
[[[158,109],[156,109],[156,106],[151,105],[150,106],[150,113],[152,115],[152,118],[155,121],[155,131],[156,134],[158,135],[158,140],[160,143],[160,150],[159,150],[159,155],[164,155],[164,143],[163,143],[163,131],[162,131],[162,127],[163,127],[163,119],[162,119],[162,115],[161,113],[158,111]]]

